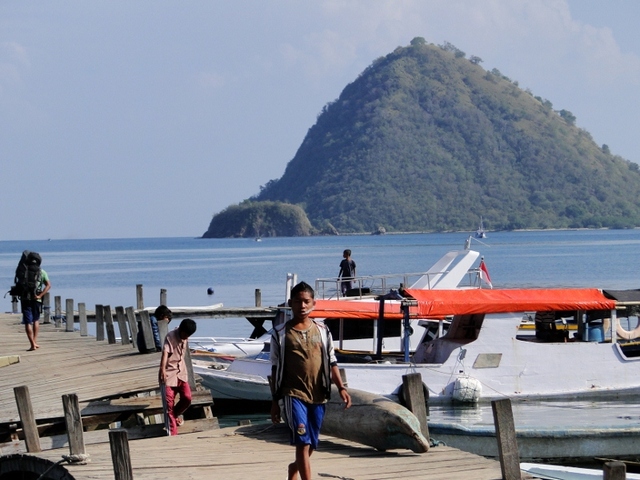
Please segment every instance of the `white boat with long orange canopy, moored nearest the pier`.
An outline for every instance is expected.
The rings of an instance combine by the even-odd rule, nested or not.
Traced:
[[[402,375],[420,373],[429,401],[489,401],[605,398],[640,393],[640,351],[620,343],[618,313],[624,303],[598,289],[407,290],[414,318],[451,317],[447,333],[421,343],[411,357],[379,362],[340,362],[349,386],[378,395],[398,395]],[[617,292],[616,295],[618,294]],[[631,302],[633,303],[633,302]],[[375,319],[378,303],[318,300],[312,316]],[[385,316],[401,318],[399,305]],[[577,325],[549,330],[557,317]],[[533,318],[535,332],[522,332]],[[361,320],[365,321],[365,320]],[[608,326],[608,327],[607,327]],[[607,331],[605,331],[607,330]],[[613,340],[612,340],[613,339]],[[258,366],[260,363],[258,364]],[[262,370],[266,378],[268,361]]]

